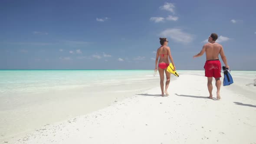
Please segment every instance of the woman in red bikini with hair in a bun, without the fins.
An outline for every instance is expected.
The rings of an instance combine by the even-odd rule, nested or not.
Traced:
[[[173,62],[172,56],[171,56],[171,49],[170,47],[168,47],[168,40],[166,38],[160,38],[160,44],[161,47],[158,48],[157,51],[157,57],[156,57],[156,62],[155,62],[155,70],[158,69],[159,75],[160,75],[160,86],[161,86],[161,92],[162,92],[162,96],[165,95],[169,95],[167,92],[169,83],[170,83],[170,77],[171,77],[171,73],[167,72],[167,67],[169,66],[169,59],[171,60],[171,63],[174,66],[174,71],[176,71],[175,68],[175,64]],[[158,58],[160,56],[159,59],[159,63],[158,63]],[[158,68],[157,68],[158,65]],[[166,75],[166,83],[165,83],[165,90],[164,90],[164,72]]]

